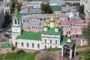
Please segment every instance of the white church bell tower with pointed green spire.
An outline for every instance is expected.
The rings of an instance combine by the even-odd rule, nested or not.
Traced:
[[[16,39],[16,37],[20,34],[21,34],[21,17],[16,4],[14,14],[12,16],[12,39]]]

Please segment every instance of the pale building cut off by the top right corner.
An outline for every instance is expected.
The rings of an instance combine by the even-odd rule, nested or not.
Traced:
[[[84,5],[86,18],[90,19],[90,0],[81,0],[80,5]]]

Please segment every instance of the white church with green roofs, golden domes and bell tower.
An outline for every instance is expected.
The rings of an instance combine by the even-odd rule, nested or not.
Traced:
[[[27,32],[23,30],[23,23],[18,8],[12,17],[12,38],[10,42],[20,49],[42,50],[47,48],[62,48],[65,42],[71,42],[69,36],[63,35],[60,21],[54,17],[45,20],[42,32]]]

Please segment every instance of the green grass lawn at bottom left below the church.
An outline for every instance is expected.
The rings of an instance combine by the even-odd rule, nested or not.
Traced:
[[[15,52],[7,53],[6,55],[0,55],[0,60],[34,60],[36,54],[39,52],[34,53],[21,53],[17,54]]]

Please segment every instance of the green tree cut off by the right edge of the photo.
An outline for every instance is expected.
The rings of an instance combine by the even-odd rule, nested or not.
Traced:
[[[82,36],[88,41],[88,45],[90,46],[90,22],[87,27],[83,28]]]

